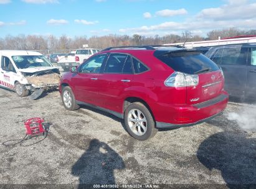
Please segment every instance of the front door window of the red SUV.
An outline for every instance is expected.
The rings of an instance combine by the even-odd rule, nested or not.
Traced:
[[[81,67],[78,68],[79,73],[100,73],[100,68],[102,63],[106,58],[106,54],[96,55],[83,63]]]

